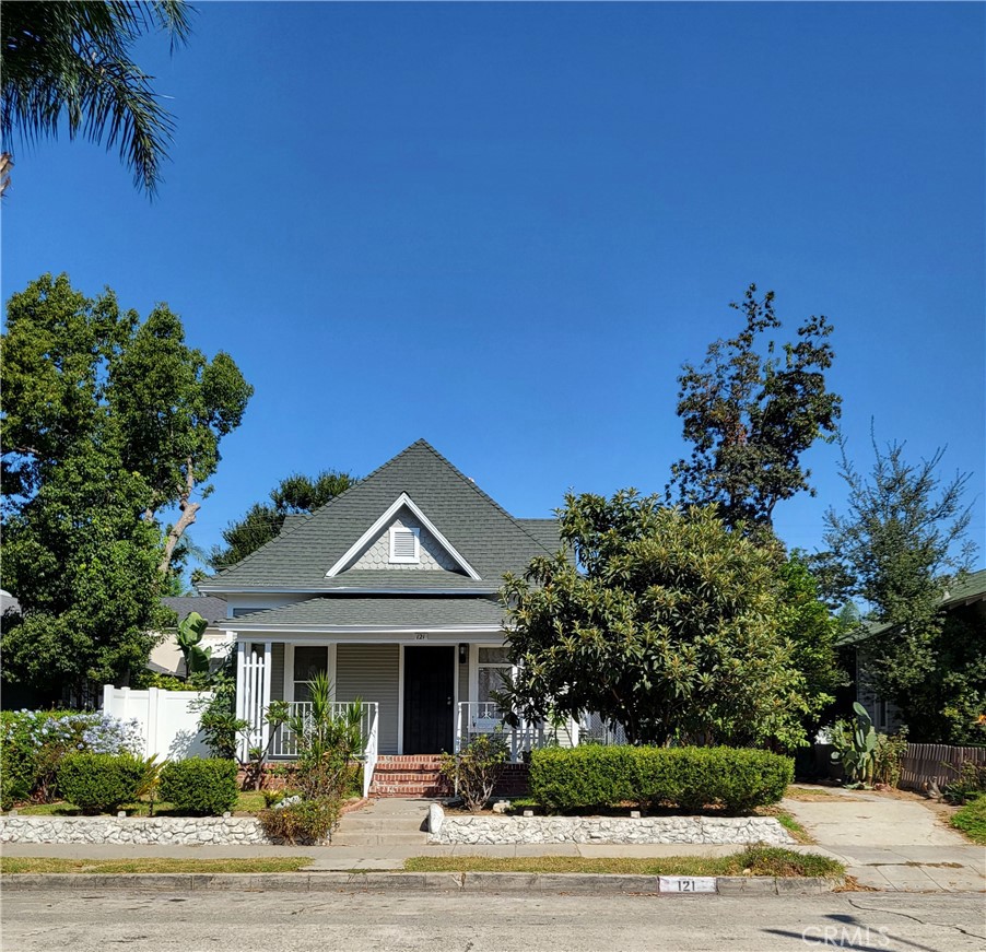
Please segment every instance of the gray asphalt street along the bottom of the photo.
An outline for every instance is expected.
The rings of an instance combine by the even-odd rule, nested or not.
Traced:
[[[823,896],[24,891],[4,952],[764,952],[986,948],[982,893]]]

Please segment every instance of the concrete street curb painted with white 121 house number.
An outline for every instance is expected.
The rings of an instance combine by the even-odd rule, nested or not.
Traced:
[[[840,889],[844,880],[822,877],[742,877],[715,879],[719,895],[820,895]],[[656,875],[623,873],[528,872],[174,872],[174,873],[4,873],[0,889],[154,890],[157,892],[540,892],[595,895],[699,895],[662,891]],[[704,894],[709,895],[711,892]]]

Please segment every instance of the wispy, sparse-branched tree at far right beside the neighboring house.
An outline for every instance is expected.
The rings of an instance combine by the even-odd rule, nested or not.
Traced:
[[[942,480],[942,450],[911,462],[904,445],[873,440],[869,475],[843,447],[846,510],[825,514],[827,551],[817,557],[833,604],[866,609],[859,643],[868,680],[901,709],[911,737],[963,739],[986,704],[986,637],[947,624],[941,601],[975,552],[967,539],[969,475]]]

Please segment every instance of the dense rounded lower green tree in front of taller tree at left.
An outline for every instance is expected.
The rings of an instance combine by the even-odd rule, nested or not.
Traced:
[[[58,702],[146,663],[151,633],[174,622],[159,602],[161,533],[139,518],[146,492],[111,447],[90,444],[4,519],[3,587],[21,603],[3,625],[8,685]]]

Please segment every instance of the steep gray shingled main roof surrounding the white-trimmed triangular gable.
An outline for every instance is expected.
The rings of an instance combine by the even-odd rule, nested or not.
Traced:
[[[481,576],[476,581],[446,572],[326,572],[407,493]],[[535,555],[553,553],[548,520],[525,527],[423,439],[409,446],[366,479],[328,502],[302,525],[282,533],[242,562],[199,585],[201,591],[250,589],[333,591],[364,586],[374,590],[434,588],[495,591],[507,571],[520,572]],[[399,577],[398,577],[399,576]],[[409,578],[408,576],[413,576]],[[438,576],[437,579],[423,576]]]

